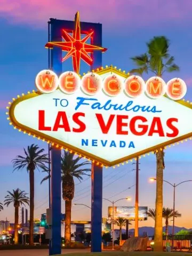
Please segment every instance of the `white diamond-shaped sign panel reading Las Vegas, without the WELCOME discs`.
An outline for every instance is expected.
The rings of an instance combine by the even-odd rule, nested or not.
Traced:
[[[146,93],[131,98],[123,91],[110,97],[103,90],[58,89],[14,101],[10,118],[23,131],[112,166],[190,137],[190,106]]]

